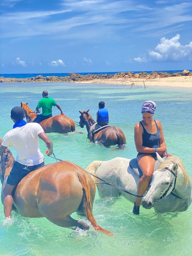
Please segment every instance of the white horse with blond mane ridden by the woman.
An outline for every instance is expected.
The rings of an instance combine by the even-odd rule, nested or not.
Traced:
[[[166,160],[158,154],[157,157],[159,165],[154,171],[150,188],[142,198],[142,206],[146,209],[154,207],[156,212],[186,211],[192,202],[192,184],[184,164],[177,156],[170,156]],[[117,157],[108,161],[94,161],[86,171],[137,195],[139,176],[130,167],[130,159]],[[104,184],[96,178],[94,181],[101,198],[122,195],[132,203],[136,200],[136,196],[115,186]]]

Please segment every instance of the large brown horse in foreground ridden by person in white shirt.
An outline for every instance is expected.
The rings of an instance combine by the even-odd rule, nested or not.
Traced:
[[[0,161],[2,190],[13,162],[7,148]],[[110,235],[112,233],[101,228],[92,214],[95,190],[91,176],[80,166],[68,161],[47,164],[19,182],[13,194],[14,210],[24,217],[45,217],[61,227],[89,229],[87,224],[70,217],[77,212],[86,216],[95,230]]]

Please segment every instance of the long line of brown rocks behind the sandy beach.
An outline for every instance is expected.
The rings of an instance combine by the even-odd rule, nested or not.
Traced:
[[[18,83],[18,82],[87,82],[92,80],[116,80],[116,79],[145,79],[145,80],[152,80],[155,78],[168,78],[168,77],[178,77],[178,76],[192,76],[192,72],[189,70],[183,70],[182,72],[177,73],[170,73],[167,72],[154,72],[152,71],[150,74],[146,72],[141,73],[134,73],[134,72],[120,72],[112,75],[107,74],[88,74],[88,75],[80,75],[75,73],[69,73],[68,76],[36,76],[30,78],[4,78],[3,76],[0,77],[1,83]]]

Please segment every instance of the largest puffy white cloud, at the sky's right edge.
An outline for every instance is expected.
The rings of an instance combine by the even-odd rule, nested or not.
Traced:
[[[155,51],[150,50],[149,55],[154,60],[174,60],[184,61],[192,59],[192,42],[181,45],[179,42],[180,35],[167,39],[160,39],[160,43],[155,47]]]

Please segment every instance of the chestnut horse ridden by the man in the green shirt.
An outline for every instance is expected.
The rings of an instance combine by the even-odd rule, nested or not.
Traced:
[[[21,102],[21,107],[24,109],[27,122],[31,123],[36,118],[37,114],[28,107],[28,103]],[[75,131],[74,121],[65,115],[52,116],[40,122],[40,125],[45,133],[67,133]]]

